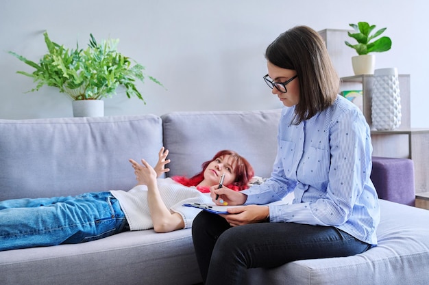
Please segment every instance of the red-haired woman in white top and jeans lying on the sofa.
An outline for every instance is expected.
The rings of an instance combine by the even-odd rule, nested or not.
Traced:
[[[15,199],[0,202],[0,251],[25,247],[83,243],[125,230],[171,232],[191,228],[199,209],[184,203],[207,203],[205,192],[223,185],[241,191],[254,176],[249,162],[234,151],[221,150],[191,178],[158,179],[169,169],[168,150],[161,148],[151,167],[130,159],[137,185],[130,191],[111,190],[74,197]]]

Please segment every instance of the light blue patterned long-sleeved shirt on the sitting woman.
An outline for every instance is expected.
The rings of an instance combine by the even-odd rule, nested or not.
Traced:
[[[269,206],[271,222],[334,226],[377,244],[380,209],[371,174],[371,134],[363,113],[343,96],[299,125],[284,107],[271,177],[243,191],[246,204],[267,204],[294,191],[290,205]]]

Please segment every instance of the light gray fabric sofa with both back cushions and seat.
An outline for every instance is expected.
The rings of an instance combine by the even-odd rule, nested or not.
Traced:
[[[195,174],[227,148],[267,177],[279,118],[280,110],[266,110],[0,120],[0,200],[130,189],[135,179],[127,160],[145,158],[154,165],[162,145],[170,151],[169,176]],[[403,189],[383,193],[392,191]],[[387,200],[380,205],[378,247],[347,258],[249,269],[247,284],[428,284],[429,211]],[[190,229],[0,252],[0,284],[199,282]]]

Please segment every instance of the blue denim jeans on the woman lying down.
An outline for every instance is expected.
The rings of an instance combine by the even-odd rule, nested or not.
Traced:
[[[110,192],[0,202],[0,251],[84,243],[126,228],[125,215]]]

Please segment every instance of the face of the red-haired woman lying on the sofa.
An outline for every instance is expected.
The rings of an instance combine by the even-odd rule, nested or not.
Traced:
[[[210,162],[204,170],[204,184],[208,186],[219,184],[219,180],[224,173],[223,185],[230,185],[234,182],[236,175],[234,172],[235,163],[233,161],[234,159],[232,159],[230,154],[226,154]]]

